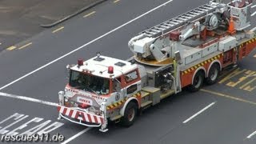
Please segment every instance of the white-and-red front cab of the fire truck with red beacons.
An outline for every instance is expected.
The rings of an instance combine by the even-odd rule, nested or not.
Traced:
[[[78,60],[68,65],[69,82],[58,93],[59,118],[84,126],[101,126],[106,131],[107,121],[120,117],[125,125],[134,121],[140,106],[142,90],[138,65],[98,54],[87,61]],[[132,109],[126,106],[132,103]],[[125,114],[129,113],[129,114]]]

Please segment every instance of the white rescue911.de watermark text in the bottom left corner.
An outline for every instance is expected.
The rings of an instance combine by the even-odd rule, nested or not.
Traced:
[[[32,135],[2,135],[1,142],[63,142],[64,135],[32,134]]]

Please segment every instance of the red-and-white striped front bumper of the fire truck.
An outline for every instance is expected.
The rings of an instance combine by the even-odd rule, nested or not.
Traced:
[[[90,114],[86,110],[78,107],[58,106],[59,118],[65,118],[70,122],[80,124],[82,126],[99,127],[101,131],[107,131],[107,120],[104,115]]]

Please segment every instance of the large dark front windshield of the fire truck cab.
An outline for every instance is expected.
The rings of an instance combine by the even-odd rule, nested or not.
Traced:
[[[95,94],[110,93],[110,79],[70,70],[70,86],[93,92]]]

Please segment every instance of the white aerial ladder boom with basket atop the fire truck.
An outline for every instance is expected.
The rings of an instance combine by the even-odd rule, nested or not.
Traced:
[[[192,36],[198,39],[198,43],[206,43],[207,34],[212,35],[213,38],[217,29],[228,29],[231,35],[236,30],[245,30],[250,26],[251,2],[251,0],[249,2],[236,0],[224,4],[222,0],[210,1],[142,31],[138,36],[130,39],[128,46],[138,62],[152,66],[168,65],[173,62],[175,52],[184,49],[181,48],[184,47],[183,42]],[[196,51],[193,50],[193,46],[185,47],[191,51],[191,54]],[[187,53],[186,51],[184,53]],[[187,54],[182,58],[186,56]]]

